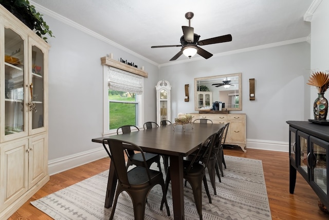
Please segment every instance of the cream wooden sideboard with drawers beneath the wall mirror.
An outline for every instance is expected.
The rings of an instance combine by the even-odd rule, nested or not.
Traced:
[[[192,121],[195,119],[210,119],[213,123],[226,124],[230,123],[226,136],[225,144],[239,145],[246,150],[246,114],[197,114],[191,113]]]

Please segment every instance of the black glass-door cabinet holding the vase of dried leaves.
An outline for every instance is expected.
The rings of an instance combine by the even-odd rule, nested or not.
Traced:
[[[308,121],[289,124],[289,192],[294,193],[297,171],[329,207],[329,126]]]

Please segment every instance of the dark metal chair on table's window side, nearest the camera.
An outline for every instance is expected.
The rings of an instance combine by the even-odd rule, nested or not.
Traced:
[[[118,127],[117,129],[117,134],[121,133],[122,134],[128,134],[131,133],[131,130],[136,129],[139,131],[138,127],[135,125],[123,125],[121,127]],[[127,154],[127,169],[129,166],[136,165],[143,167],[143,157],[140,153],[135,153],[133,150],[125,150],[125,153]],[[160,156],[158,154],[152,154],[152,153],[144,153],[145,160],[148,164],[148,168],[151,167],[151,164],[156,162],[158,164],[159,170],[161,171],[161,163],[160,163]]]

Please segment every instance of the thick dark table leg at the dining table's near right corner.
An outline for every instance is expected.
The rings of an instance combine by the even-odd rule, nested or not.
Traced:
[[[170,178],[173,196],[174,219],[183,220],[185,216],[182,156],[170,156]]]

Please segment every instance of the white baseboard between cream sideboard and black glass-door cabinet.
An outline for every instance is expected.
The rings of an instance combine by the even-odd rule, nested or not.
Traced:
[[[247,139],[247,151],[248,149],[258,149],[265,151],[280,151],[289,152],[289,143],[280,141],[268,141],[268,140],[254,140]]]

